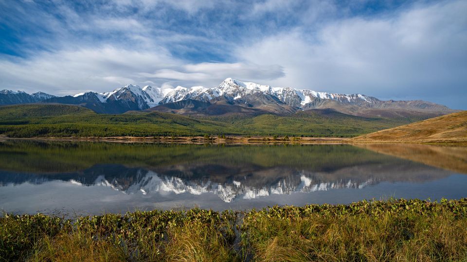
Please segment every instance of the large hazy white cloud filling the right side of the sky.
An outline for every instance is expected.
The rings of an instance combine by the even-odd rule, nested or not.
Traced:
[[[299,28],[240,47],[236,56],[283,66],[285,76],[273,85],[433,100],[440,90],[465,88],[466,11],[466,1],[449,1],[397,16],[343,19],[315,40]]]

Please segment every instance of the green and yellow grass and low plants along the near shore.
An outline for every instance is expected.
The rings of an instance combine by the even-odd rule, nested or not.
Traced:
[[[467,198],[0,217],[4,261],[466,261]]]

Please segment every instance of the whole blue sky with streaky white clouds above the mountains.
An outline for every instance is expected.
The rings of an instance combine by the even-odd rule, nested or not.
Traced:
[[[231,77],[467,110],[466,14],[466,0],[0,0],[0,89]]]

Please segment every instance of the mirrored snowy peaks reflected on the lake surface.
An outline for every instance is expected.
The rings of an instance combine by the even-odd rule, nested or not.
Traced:
[[[350,179],[345,181],[323,182],[314,178],[313,174],[302,172],[297,174],[297,176],[286,177],[271,185],[254,187],[247,185],[249,182],[248,180],[233,180],[232,182],[221,184],[211,182],[210,180],[182,180],[177,177],[161,176],[153,171],[147,171],[145,174],[144,172],[145,171],[139,170],[132,184],[122,185],[116,179],[108,181],[104,176],[99,176],[95,180],[94,185],[109,186],[125,194],[188,193],[200,195],[203,193],[212,193],[219,196],[224,202],[229,203],[237,197],[250,199],[269,195],[289,195],[295,192],[308,193],[341,188],[363,188],[376,182],[373,179],[362,182]],[[298,177],[300,180],[296,179]]]

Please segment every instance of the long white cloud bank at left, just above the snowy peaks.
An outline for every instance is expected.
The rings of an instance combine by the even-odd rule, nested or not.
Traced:
[[[166,49],[100,49],[41,52],[32,59],[0,60],[0,86],[29,93],[72,95],[110,91],[128,83],[171,87],[216,86],[227,77],[267,80],[282,76],[280,66],[241,63],[186,64]]]

